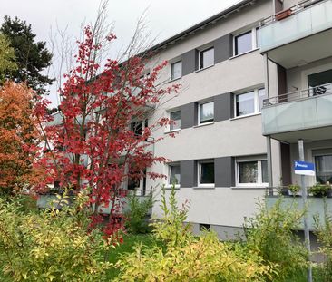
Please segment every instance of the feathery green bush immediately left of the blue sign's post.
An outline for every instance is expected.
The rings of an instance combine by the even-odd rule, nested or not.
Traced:
[[[259,202],[258,213],[245,222],[246,247],[278,266],[273,281],[296,281],[308,267],[307,249],[294,233],[303,213],[292,205],[286,207],[280,198],[270,209]]]

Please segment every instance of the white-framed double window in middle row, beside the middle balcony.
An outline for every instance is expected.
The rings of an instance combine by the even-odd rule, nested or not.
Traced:
[[[235,116],[249,115],[261,111],[266,99],[265,89],[255,89],[235,96]]]

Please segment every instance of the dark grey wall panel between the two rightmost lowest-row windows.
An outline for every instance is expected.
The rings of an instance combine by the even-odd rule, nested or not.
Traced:
[[[235,186],[235,161],[233,157],[214,159],[214,179],[216,187]]]

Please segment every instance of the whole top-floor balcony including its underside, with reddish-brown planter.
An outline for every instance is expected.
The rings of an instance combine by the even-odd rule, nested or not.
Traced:
[[[260,52],[286,69],[332,56],[332,0],[307,0],[260,23]]]

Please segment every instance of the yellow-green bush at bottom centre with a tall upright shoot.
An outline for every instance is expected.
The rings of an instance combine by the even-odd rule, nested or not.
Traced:
[[[222,243],[213,232],[199,238],[191,235],[182,220],[187,209],[178,209],[175,192],[171,191],[170,208],[165,195],[161,207],[164,219],[154,224],[156,238],[166,249],[136,246],[118,262],[118,281],[267,281],[273,268],[262,263],[254,252],[239,244]]]

